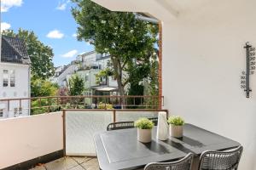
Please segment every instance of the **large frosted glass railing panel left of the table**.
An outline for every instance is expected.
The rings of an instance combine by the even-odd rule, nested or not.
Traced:
[[[67,156],[96,156],[93,136],[106,131],[113,111],[66,111]]]

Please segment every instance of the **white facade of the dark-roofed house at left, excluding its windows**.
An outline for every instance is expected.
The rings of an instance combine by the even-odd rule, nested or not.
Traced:
[[[3,70],[15,71],[15,87],[3,87]],[[19,98],[30,98],[30,67],[29,65],[16,65],[10,63],[0,62],[0,99],[19,99]],[[13,117],[14,109],[20,107],[20,102],[10,101],[9,110],[7,112],[7,102],[0,102],[0,107],[5,107],[4,117]],[[21,107],[23,108],[22,115],[29,115],[29,101],[22,100]],[[0,117],[1,118],[1,117]]]

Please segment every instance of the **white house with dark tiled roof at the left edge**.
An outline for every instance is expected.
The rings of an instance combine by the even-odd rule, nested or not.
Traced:
[[[30,94],[30,59],[25,42],[17,37],[2,36],[0,118],[28,116],[30,100],[26,98],[30,98]],[[1,101],[1,99],[9,100]]]

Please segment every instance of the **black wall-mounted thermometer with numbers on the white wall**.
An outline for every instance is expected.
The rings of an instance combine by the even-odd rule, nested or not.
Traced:
[[[241,72],[241,88],[244,89],[247,98],[249,98],[250,92],[252,92],[250,88],[250,76],[253,75],[255,70],[255,48],[249,42],[246,42],[244,48],[246,49],[247,56],[247,70]]]

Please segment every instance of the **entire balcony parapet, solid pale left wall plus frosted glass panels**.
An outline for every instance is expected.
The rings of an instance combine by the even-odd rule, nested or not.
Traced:
[[[96,156],[93,135],[106,131],[108,123],[157,117],[159,111],[166,110],[68,109],[0,120],[0,128],[8,129],[1,134],[0,169],[28,169],[60,156]]]

